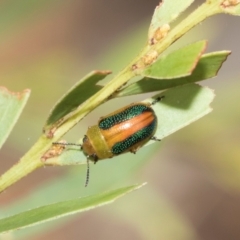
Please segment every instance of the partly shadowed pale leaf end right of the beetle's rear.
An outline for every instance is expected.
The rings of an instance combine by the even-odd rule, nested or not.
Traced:
[[[211,112],[210,103],[215,96],[211,89],[197,84],[178,86],[161,95],[165,98],[153,105],[158,116],[155,135],[159,139],[169,136]],[[152,142],[149,141],[146,145]]]

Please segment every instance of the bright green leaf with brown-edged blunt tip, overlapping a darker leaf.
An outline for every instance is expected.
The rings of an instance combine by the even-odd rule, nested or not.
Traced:
[[[199,41],[162,56],[143,72],[143,76],[156,79],[171,79],[188,76],[196,67],[206,49],[207,42]]]

